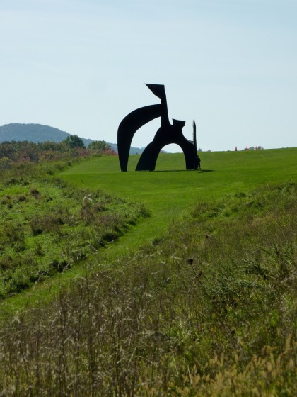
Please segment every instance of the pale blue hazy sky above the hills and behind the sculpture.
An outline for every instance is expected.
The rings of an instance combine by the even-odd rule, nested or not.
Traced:
[[[0,125],[116,142],[154,83],[202,150],[297,146],[296,0],[0,0],[0,22]]]

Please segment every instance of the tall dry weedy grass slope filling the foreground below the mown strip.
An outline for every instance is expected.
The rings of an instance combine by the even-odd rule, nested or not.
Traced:
[[[0,330],[5,396],[296,396],[296,185],[200,203]]]

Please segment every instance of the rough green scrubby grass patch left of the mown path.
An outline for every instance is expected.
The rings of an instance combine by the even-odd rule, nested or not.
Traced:
[[[1,172],[0,299],[71,269],[149,216],[141,203],[52,174],[51,164]]]

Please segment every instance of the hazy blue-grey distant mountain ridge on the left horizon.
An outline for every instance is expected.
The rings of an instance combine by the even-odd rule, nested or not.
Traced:
[[[11,123],[2,125],[0,127],[0,143],[6,140],[28,140],[29,142],[45,142],[46,140],[54,142],[62,142],[67,136],[74,135],[59,130],[58,128],[50,127],[50,125],[42,124],[21,124]],[[80,137],[81,138],[81,137]],[[83,143],[88,146],[93,142],[91,139],[81,138]],[[117,152],[117,144],[107,142],[112,147],[112,150]],[[136,155],[144,150],[144,147],[131,147],[130,155]]]

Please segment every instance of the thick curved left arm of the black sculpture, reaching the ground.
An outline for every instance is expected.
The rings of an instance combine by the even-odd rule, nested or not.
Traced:
[[[117,129],[117,151],[122,171],[127,171],[129,150],[136,130],[161,115],[162,106],[157,104],[136,109],[122,119]]]

